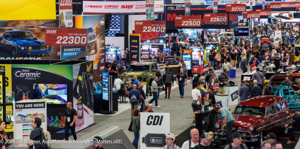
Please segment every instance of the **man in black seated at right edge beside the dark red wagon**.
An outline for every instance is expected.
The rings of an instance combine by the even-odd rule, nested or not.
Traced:
[[[293,123],[284,125],[284,127],[292,127],[287,130],[287,133],[289,134],[289,141],[286,144],[294,143],[295,136],[293,135],[293,132],[300,131],[300,116],[296,114],[294,110],[291,110],[289,115],[293,118]]]

